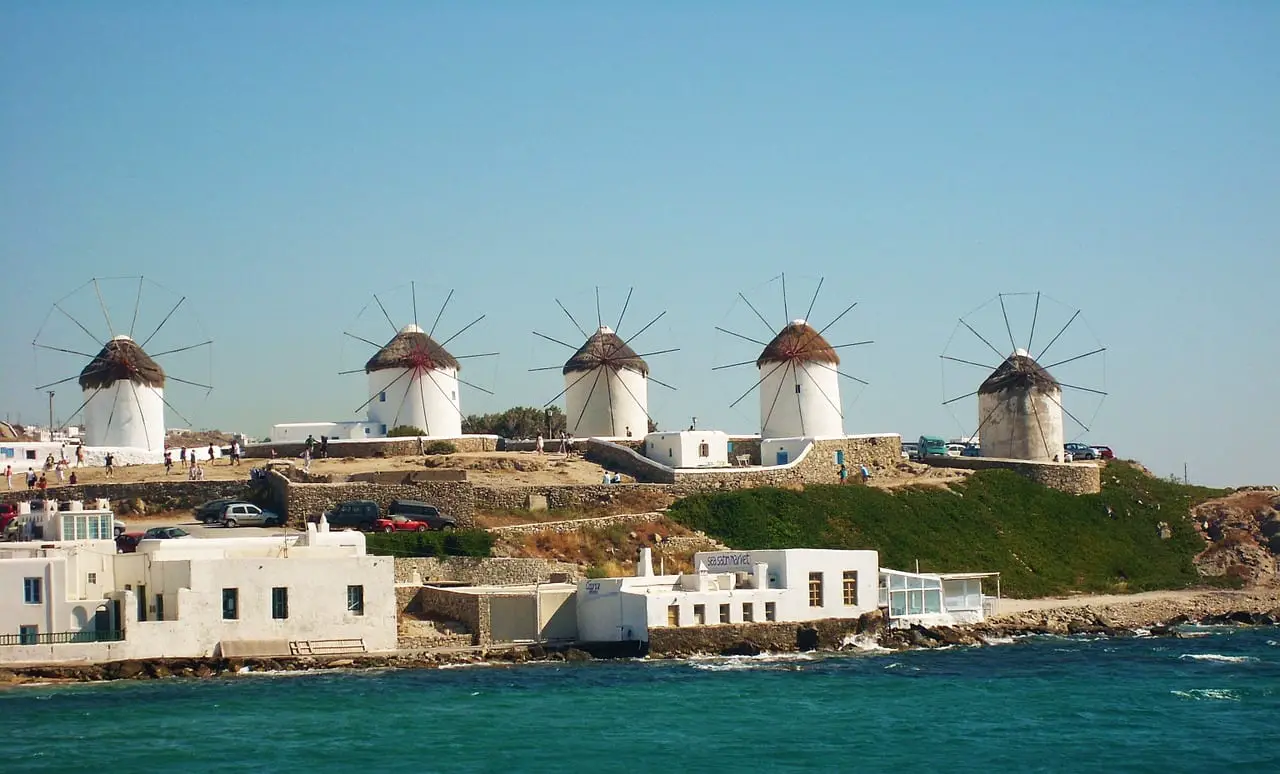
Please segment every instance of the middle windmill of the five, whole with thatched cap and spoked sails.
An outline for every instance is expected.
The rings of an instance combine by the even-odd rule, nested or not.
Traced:
[[[627,298],[622,303],[622,312],[618,315],[618,324],[609,328],[604,324],[600,313],[600,289],[595,289],[595,331],[588,334],[573,315],[564,308],[564,304],[556,299],[564,316],[568,317],[573,328],[577,329],[586,342],[581,347],[573,347],[549,335],[532,331],[535,336],[554,342],[573,352],[563,366],[545,366],[530,368],[530,371],[559,370],[564,376],[564,389],[554,398],[543,404],[548,408],[564,397],[566,422],[568,434],[573,438],[625,438],[644,436],[648,432],[653,417],[649,416],[649,383],[664,386],[669,390],[676,388],[654,379],[649,374],[649,363],[644,358],[669,352],[675,349],[658,349],[637,354],[631,344],[640,338],[649,328],[660,320],[667,312],[659,312],[657,317],[646,322],[640,330],[622,339],[618,330],[626,319],[627,308],[631,306],[631,294],[635,288],[627,290]]]

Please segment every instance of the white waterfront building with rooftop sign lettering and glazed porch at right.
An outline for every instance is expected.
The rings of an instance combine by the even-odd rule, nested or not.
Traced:
[[[858,618],[881,606],[891,626],[983,618],[983,576],[954,576],[945,594],[948,576],[882,571],[878,560],[870,550],[700,551],[696,572],[655,576],[644,549],[635,577],[579,583],[579,637],[646,642],[658,627]]]

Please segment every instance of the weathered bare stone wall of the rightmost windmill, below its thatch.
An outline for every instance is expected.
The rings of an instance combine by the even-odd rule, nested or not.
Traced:
[[[1056,403],[1055,403],[1056,402]],[[978,395],[982,455],[1052,462],[1062,459],[1061,390],[1002,390]]]

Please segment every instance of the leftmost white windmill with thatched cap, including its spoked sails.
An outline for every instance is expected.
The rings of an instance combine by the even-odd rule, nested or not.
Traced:
[[[137,283],[136,289],[133,288],[134,283]],[[91,329],[91,326],[97,328],[96,324],[87,325],[68,311],[68,307],[74,310],[90,306],[88,288],[92,288],[93,297],[96,297],[97,306],[102,312],[106,326],[105,336],[100,335],[101,329],[99,333]],[[122,290],[122,288],[124,289]],[[159,358],[166,356],[209,347],[210,349],[206,351],[210,353],[209,371],[210,374],[212,371],[212,340],[182,344],[182,339],[195,338],[191,336],[189,328],[168,326],[187,301],[186,296],[180,297],[172,307],[159,307],[168,308],[159,324],[155,324],[141,342],[134,339],[140,315],[145,328],[150,325],[147,317],[151,316],[152,307],[143,304],[143,294],[147,288],[151,288],[152,292],[159,289],[168,293],[159,284],[142,276],[93,278],[54,302],[45,316],[45,322],[32,340],[32,347],[37,352],[49,351],[88,358],[88,363],[78,374],[36,388],[40,391],[50,391],[50,388],[59,384],[73,380],[78,383],[83,403],[67,416],[60,429],[65,429],[77,415],[83,412],[86,446],[145,449],[159,454],[165,448],[165,408],[169,408],[188,426],[191,425],[189,420],[183,417],[165,397],[165,388],[170,383],[189,385],[204,389],[206,397],[212,390],[210,384],[166,374],[157,362]],[[104,296],[104,290],[106,296]],[[127,331],[113,324],[111,303],[108,302],[108,298],[111,297],[113,301],[120,303],[114,298],[113,290],[116,292],[115,294],[127,290],[128,296],[133,297],[133,310]],[[122,315],[114,317],[116,321],[124,319]],[[74,325],[74,329],[65,326],[68,321]],[[166,340],[166,344],[160,352],[148,354],[146,347],[161,333],[168,334],[166,339],[163,339]],[[96,354],[73,348],[76,344],[70,339],[81,339],[81,334],[93,340]],[[205,381],[210,380],[206,377]],[[51,391],[50,395],[52,395]]]

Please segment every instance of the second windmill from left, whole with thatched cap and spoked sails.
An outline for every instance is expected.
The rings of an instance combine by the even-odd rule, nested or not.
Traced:
[[[375,293],[357,315],[357,321],[376,304],[393,335],[385,344],[378,344],[365,336],[343,331],[343,335],[364,342],[375,349],[374,354],[360,368],[339,374],[364,372],[369,377],[369,399],[361,403],[355,413],[367,411],[369,422],[376,426],[379,435],[387,435],[398,426],[422,430],[430,438],[458,438],[462,435],[462,399],[458,385],[465,384],[488,395],[493,391],[472,384],[461,376],[460,361],[480,357],[495,357],[497,352],[453,356],[444,347],[485,319],[480,315],[461,330],[443,342],[435,340],[435,330],[444,316],[453,290],[449,290],[435,315],[430,330],[422,330],[417,324],[417,285],[410,283],[412,299],[412,322],[397,325],[388,313],[385,304]]]

